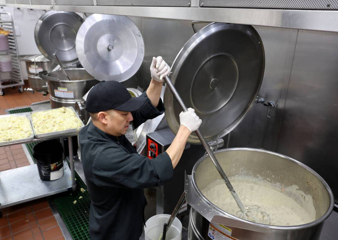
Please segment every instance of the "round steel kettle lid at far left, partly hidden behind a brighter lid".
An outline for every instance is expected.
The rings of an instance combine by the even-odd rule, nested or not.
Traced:
[[[63,64],[78,63],[75,50],[76,33],[83,19],[75,12],[48,11],[35,25],[34,38],[40,52],[56,62],[53,54]]]

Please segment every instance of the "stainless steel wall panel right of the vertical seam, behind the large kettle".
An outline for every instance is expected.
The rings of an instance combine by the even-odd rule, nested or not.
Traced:
[[[338,34],[299,30],[277,152],[321,175],[338,203]]]

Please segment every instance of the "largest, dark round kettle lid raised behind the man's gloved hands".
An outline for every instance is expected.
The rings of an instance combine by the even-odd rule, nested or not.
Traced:
[[[252,26],[212,23],[194,34],[174,60],[171,81],[187,108],[202,119],[207,141],[224,137],[249,111],[264,74],[262,40]],[[166,87],[165,116],[174,133],[182,111]],[[200,143],[196,134],[189,143]]]

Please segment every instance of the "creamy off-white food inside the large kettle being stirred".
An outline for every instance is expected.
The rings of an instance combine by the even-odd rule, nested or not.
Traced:
[[[229,180],[246,208],[258,205],[261,207],[260,210],[269,214],[269,225],[295,226],[315,220],[316,211],[312,197],[298,190],[296,185],[284,188],[281,185],[248,176],[235,176]],[[202,193],[225,212],[239,216],[239,207],[223,180],[218,179],[210,183],[202,190]],[[260,212],[251,213],[259,219],[262,218]],[[248,220],[254,221],[250,218]]]

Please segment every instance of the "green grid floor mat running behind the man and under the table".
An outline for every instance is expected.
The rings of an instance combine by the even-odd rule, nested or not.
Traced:
[[[10,114],[26,113],[33,110],[28,108],[10,110]],[[32,156],[33,161],[33,147],[39,142],[26,143],[29,154]],[[69,165],[69,163],[68,163]],[[57,210],[64,220],[67,229],[74,240],[87,240],[89,237],[89,210],[91,199],[86,187],[86,184],[75,172],[76,191],[73,193],[60,193],[53,197],[53,202]],[[82,190],[82,191],[81,191]],[[82,197],[82,198],[80,198]],[[76,203],[74,204],[74,201]]]

